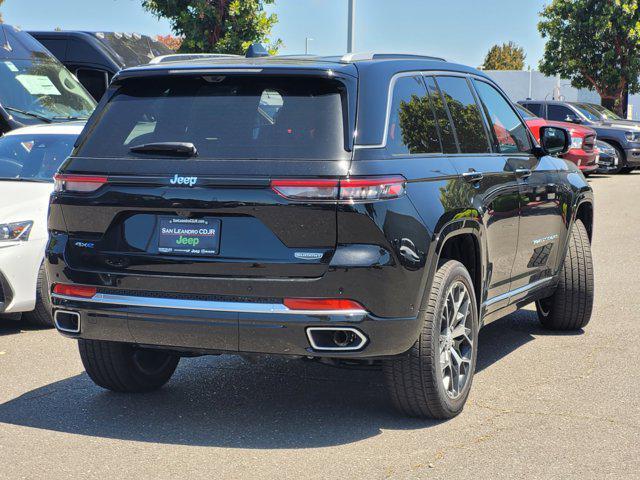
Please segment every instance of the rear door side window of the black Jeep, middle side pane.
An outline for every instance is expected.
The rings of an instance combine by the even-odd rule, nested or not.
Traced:
[[[489,142],[467,79],[463,77],[437,77],[456,129],[462,153],[488,153]]]

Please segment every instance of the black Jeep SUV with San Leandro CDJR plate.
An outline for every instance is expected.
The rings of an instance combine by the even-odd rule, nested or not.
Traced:
[[[483,73],[350,55],[119,73],[51,197],[57,328],[125,392],[181,356],[380,364],[403,412],[459,413],[478,330],[589,321],[593,196]]]

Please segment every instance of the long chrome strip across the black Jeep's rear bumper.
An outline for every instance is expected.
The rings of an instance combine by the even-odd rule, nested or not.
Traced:
[[[126,307],[169,308],[181,310],[200,310],[207,312],[230,313],[265,313],[286,315],[366,315],[365,310],[291,310],[281,303],[250,303],[250,302],[219,302],[209,300],[185,300],[179,298],[136,297],[129,295],[111,295],[96,293],[91,298],[72,297],[68,295],[51,294],[52,298],[71,300],[74,302],[89,302],[103,305],[120,305]]]

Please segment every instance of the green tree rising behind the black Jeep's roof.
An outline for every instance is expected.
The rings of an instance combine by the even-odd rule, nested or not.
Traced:
[[[166,17],[173,32],[184,40],[180,52],[242,55],[252,43],[267,42],[277,22],[264,7],[275,0],[142,0],[158,18]],[[280,39],[268,48],[277,52]]]

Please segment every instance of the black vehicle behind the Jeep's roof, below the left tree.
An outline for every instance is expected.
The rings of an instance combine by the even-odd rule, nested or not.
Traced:
[[[32,31],[80,83],[100,100],[113,76],[123,68],[174,53],[147,35],[120,32]]]

